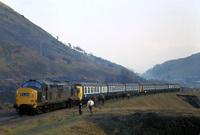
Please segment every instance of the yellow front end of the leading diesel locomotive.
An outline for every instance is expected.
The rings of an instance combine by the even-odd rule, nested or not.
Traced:
[[[16,108],[20,114],[32,114],[37,107],[37,91],[32,88],[16,90]]]

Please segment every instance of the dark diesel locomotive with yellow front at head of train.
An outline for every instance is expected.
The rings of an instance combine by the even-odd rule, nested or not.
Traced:
[[[68,107],[78,92],[68,81],[29,80],[16,90],[15,107],[20,114],[38,114]]]

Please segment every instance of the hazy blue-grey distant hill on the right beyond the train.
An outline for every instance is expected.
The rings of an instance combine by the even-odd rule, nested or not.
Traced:
[[[200,87],[200,53],[156,65],[142,76],[180,83],[183,87]]]

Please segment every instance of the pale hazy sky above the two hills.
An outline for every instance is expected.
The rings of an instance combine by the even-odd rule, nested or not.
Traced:
[[[200,0],[1,0],[59,41],[143,73],[200,52]]]

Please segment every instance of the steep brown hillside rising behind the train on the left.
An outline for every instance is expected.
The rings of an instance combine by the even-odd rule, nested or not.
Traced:
[[[14,91],[30,78],[121,83],[143,81],[125,67],[81,50],[63,44],[0,2],[0,101],[13,101]]]

